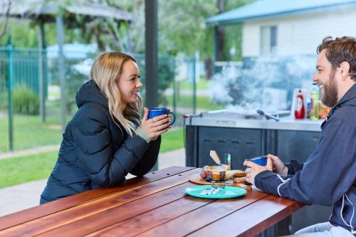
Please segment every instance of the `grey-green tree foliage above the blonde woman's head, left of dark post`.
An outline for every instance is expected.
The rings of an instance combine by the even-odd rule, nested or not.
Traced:
[[[66,28],[72,32],[72,40],[83,43],[98,44],[100,51],[106,48],[112,50],[132,53],[143,53],[145,51],[145,1],[120,1],[118,4],[114,0],[92,1],[93,3],[107,4],[113,8],[129,11],[132,14],[132,21],[121,21],[118,19],[75,16],[66,21]],[[83,3],[85,1],[71,1],[70,4]]]

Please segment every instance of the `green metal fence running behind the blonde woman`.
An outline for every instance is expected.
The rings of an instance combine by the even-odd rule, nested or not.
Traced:
[[[64,60],[67,122],[77,110],[75,93],[88,80],[90,65],[99,53]],[[137,59],[145,88],[145,56],[132,56]],[[195,68],[194,58],[159,56],[159,104],[172,107],[177,117],[196,110]],[[182,83],[184,89],[180,90]],[[145,90],[142,94],[145,98]],[[62,96],[56,56],[46,50],[0,47],[0,153],[58,145],[63,129]]]

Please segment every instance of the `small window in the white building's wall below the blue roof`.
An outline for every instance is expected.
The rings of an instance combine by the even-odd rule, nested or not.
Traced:
[[[268,56],[276,51],[277,26],[261,27],[261,56]]]

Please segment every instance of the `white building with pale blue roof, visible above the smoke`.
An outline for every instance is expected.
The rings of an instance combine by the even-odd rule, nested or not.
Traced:
[[[243,24],[242,56],[315,54],[325,36],[356,36],[356,0],[261,0],[206,20]]]

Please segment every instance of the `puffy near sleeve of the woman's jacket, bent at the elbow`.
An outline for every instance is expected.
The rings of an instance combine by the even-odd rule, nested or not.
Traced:
[[[112,186],[125,180],[150,146],[134,135],[127,137],[117,150],[113,150],[109,126],[109,118],[104,112],[93,107],[86,107],[73,119],[75,152],[94,187]]]

